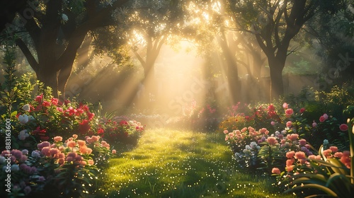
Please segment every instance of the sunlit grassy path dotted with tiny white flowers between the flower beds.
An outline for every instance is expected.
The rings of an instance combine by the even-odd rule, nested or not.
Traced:
[[[284,197],[268,177],[234,170],[222,134],[150,129],[110,160],[96,197]]]

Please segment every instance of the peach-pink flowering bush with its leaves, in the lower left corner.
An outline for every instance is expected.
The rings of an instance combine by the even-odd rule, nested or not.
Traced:
[[[12,192],[8,195],[12,197],[82,197],[96,190],[93,185],[101,179],[98,173],[110,156],[110,145],[100,136],[81,140],[74,134],[65,141],[55,136],[52,142],[42,141],[32,152],[2,151],[0,168],[11,171]],[[6,185],[5,180],[6,174],[1,174],[1,186]]]

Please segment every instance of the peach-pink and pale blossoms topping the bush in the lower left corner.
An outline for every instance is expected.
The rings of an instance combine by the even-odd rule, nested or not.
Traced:
[[[109,151],[110,145],[101,141],[100,136],[86,136],[85,140],[81,140],[74,134],[65,141],[62,136],[55,136],[53,140],[52,143],[42,141],[32,152],[27,149],[1,152],[1,169],[7,167],[5,158],[11,159],[14,189],[23,190],[28,195],[30,192],[37,192],[43,186],[59,180],[59,174],[66,171],[74,174],[67,175],[67,177],[75,177],[83,170],[96,174],[98,158],[93,153],[99,152],[100,155],[108,156],[110,152],[116,153],[115,150]],[[21,177],[15,175],[21,175]],[[62,183],[62,185],[67,184]],[[60,189],[60,185],[57,187]]]

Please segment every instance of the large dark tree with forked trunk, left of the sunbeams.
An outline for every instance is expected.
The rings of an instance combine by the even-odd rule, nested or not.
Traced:
[[[76,58],[76,52],[86,35],[109,25],[112,11],[128,0],[47,0],[27,1],[16,10],[23,25],[7,25],[7,33],[25,31],[32,43],[16,35],[21,48],[38,80],[58,91],[65,98],[65,88]],[[16,20],[16,19],[15,19]],[[30,51],[33,46],[35,53]]]

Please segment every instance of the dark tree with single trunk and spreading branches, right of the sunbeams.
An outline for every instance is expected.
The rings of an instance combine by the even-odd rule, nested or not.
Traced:
[[[284,69],[290,42],[315,13],[336,12],[338,1],[319,0],[267,0],[228,1],[235,25],[253,33],[268,58],[270,68],[270,98],[284,93]]]

